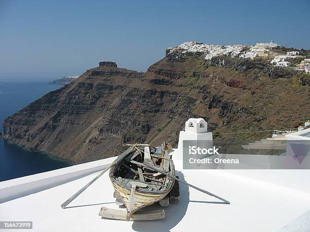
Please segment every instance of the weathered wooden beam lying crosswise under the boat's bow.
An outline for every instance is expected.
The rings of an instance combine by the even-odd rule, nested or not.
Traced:
[[[125,210],[109,209],[101,207],[99,216],[102,219],[110,218],[117,220],[126,220],[127,212]],[[152,211],[137,211],[135,212],[130,220],[131,221],[146,221],[146,220],[157,220],[165,218],[165,210],[152,210]]]

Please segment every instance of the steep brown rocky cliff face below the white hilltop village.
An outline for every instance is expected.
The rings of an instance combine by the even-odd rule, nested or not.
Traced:
[[[190,117],[204,118],[216,132],[292,128],[308,119],[310,86],[273,79],[261,65],[229,62],[223,67],[197,55],[169,55],[145,73],[100,62],[8,117],[4,136],[83,163],[118,155],[124,143],[177,146]],[[261,136],[266,133],[234,135]]]

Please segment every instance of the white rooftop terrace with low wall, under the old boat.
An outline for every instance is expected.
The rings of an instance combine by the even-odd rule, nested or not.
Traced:
[[[1,221],[33,221],[31,231],[278,231],[287,224],[302,231],[309,221],[308,214],[293,220],[310,209],[310,170],[182,170],[178,159],[180,178],[230,205],[180,183],[180,202],[165,208],[164,219],[101,219],[102,206],[119,209],[106,172],[67,208],[60,207],[114,159],[0,182]]]

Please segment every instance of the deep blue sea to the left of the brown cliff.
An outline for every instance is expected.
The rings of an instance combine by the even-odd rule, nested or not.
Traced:
[[[0,131],[3,131],[3,121],[9,115],[61,86],[49,84],[49,80],[0,79]],[[0,181],[67,166],[69,163],[66,161],[51,158],[44,153],[29,152],[0,138]]]

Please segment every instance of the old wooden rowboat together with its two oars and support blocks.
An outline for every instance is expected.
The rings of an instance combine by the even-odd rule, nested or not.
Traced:
[[[177,203],[180,196],[179,182],[215,197],[226,204],[230,204],[224,198],[179,179],[175,175],[171,152],[172,147],[166,143],[163,143],[158,148],[141,144],[130,145],[125,152],[111,164],[107,165],[105,169],[82,189],[62,203],[61,208],[66,208],[70,202],[83,193],[109,169],[109,177],[115,189],[114,197],[117,198],[115,203],[124,204],[127,212],[101,207],[99,216],[102,218],[119,220],[154,220],[164,218],[164,210],[153,210],[148,211],[148,213],[141,211],[135,212],[158,201],[162,206],[168,206],[169,201]],[[167,197],[168,194],[169,199]],[[133,213],[135,214],[133,215]]]

